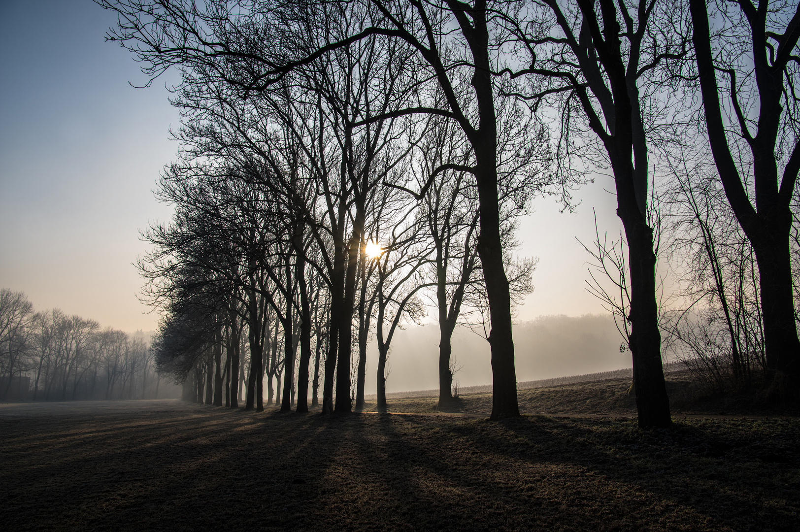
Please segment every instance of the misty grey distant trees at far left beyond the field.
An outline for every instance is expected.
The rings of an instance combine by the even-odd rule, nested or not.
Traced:
[[[23,376],[32,390],[18,386]],[[14,388],[15,398],[34,401],[158,398],[160,383],[143,336],[58,309],[34,313],[25,294],[8,289],[0,290],[0,377],[2,399]]]

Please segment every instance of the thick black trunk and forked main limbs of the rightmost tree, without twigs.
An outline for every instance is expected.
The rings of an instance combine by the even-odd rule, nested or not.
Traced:
[[[765,9],[759,7],[756,10],[750,6],[750,10],[747,10],[742,5],[742,15],[748,21],[746,39],[752,45],[750,50],[753,53],[759,114],[757,133],[754,136],[746,131],[749,125],[740,122],[739,126],[742,134],[746,135],[752,155],[755,208],[750,202],[727,142],[715,74],[717,67],[711,52],[708,12],[706,2],[700,0],[690,0],[694,30],[692,38],[714,162],[728,202],[750,240],[758,262],[769,381],[767,393],[770,397],[778,395],[782,398],[798,399],[800,338],[795,319],[789,234],[792,224],[790,204],[800,169],[800,142],[795,141],[780,182],[775,152],[784,112],[782,102],[786,98],[785,94],[788,94],[786,90],[789,90],[786,89],[784,80],[786,65],[794,60],[792,50],[796,48],[800,38],[800,9],[795,10],[791,21],[787,23],[786,33],[780,35],[779,39],[775,38],[779,41],[776,50],[766,43],[770,35],[766,31],[766,19],[771,16],[766,6],[767,3],[764,3]],[[742,94],[734,93],[731,96],[742,98]],[[740,105],[737,100],[732,101],[736,106]]]

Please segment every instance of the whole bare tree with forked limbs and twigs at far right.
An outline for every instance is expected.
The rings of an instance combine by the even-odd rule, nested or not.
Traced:
[[[800,397],[800,340],[789,239],[800,170],[800,5],[738,0],[714,6],[711,33],[706,2],[690,0],[706,130],[728,202],[758,261],[769,394],[794,399]],[[726,78],[722,86],[718,72]]]

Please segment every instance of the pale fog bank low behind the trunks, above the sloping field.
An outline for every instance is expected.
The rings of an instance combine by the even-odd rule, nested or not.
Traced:
[[[564,377],[631,366],[630,352],[621,353],[619,335],[609,314],[541,316],[514,326],[517,381]],[[409,326],[391,344],[386,392],[438,388],[438,324]],[[453,335],[453,355],[461,369],[458,386],[491,384],[489,342],[466,327]],[[358,356],[358,355],[356,355]],[[377,393],[378,348],[367,351],[366,394]]]

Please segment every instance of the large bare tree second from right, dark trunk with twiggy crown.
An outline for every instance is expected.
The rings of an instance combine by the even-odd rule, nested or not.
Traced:
[[[682,107],[664,79],[667,61],[682,58],[688,38],[672,2],[534,2],[526,18],[505,16],[526,67],[524,98],[532,108],[558,109],[559,158],[574,169],[607,164],[614,173],[617,214],[630,266],[630,350],[640,426],[671,423],[655,298],[654,229],[647,198],[648,158],[677,137],[670,129]],[[576,160],[576,158],[581,160]]]

